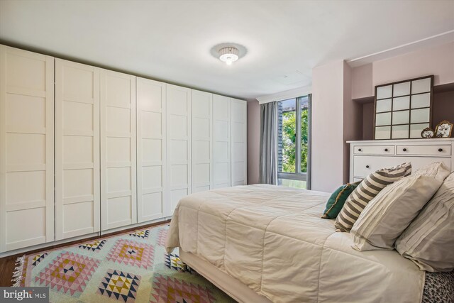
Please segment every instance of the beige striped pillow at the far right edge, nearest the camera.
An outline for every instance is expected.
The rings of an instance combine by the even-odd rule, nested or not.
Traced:
[[[454,270],[454,172],[399,236],[396,249],[421,270]]]

